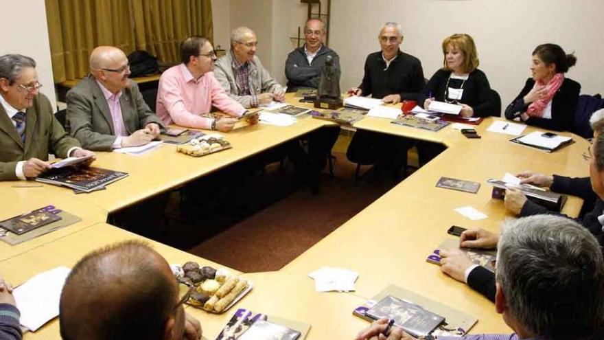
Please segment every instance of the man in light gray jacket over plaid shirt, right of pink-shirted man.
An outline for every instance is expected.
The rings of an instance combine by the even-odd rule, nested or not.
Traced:
[[[216,62],[214,74],[224,91],[245,108],[283,102],[285,91],[256,56],[258,40],[248,27],[231,32],[231,51]]]

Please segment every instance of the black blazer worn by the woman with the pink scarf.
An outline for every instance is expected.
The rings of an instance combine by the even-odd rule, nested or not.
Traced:
[[[505,109],[505,117],[513,120],[522,115],[529,109],[529,105],[524,104],[524,96],[533,89],[535,80],[529,78],[524,84],[524,88],[520,94],[507,106]],[[579,92],[581,84],[570,78],[564,78],[564,82],[552,98],[552,119],[530,117],[526,120],[526,124],[539,126],[555,131],[572,131],[572,121],[574,111],[577,111],[577,101],[579,100]]]

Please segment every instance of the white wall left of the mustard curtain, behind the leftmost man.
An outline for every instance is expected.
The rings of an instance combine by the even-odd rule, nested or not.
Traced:
[[[2,25],[7,27],[7,33],[1,38],[0,55],[23,54],[34,58],[39,81],[44,85],[41,92],[56,107],[44,0],[0,0],[0,8],[5,14],[13,14],[3,15]]]

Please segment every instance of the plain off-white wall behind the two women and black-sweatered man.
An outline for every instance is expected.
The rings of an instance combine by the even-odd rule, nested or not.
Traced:
[[[582,84],[581,93],[604,92],[603,12],[601,0],[332,0],[330,47],[340,54],[340,86],[347,89],[360,83],[367,54],[380,50],[386,21],[403,25],[402,50],[421,60],[426,78],[442,66],[443,38],[468,33],[505,107],[522,89],[540,43],[576,52],[567,76]]]

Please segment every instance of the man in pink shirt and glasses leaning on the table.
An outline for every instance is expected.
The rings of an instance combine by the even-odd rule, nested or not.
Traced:
[[[228,132],[246,115],[246,109],[231,99],[214,78],[214,60],[216,54],[206,38],[191,36],[181,43],[182,63],[167,69],[159,79],[156,113],[164,124]],[[202,117],[212,106],[232,117]],[[248,120],[257,124],[258,115]]]

